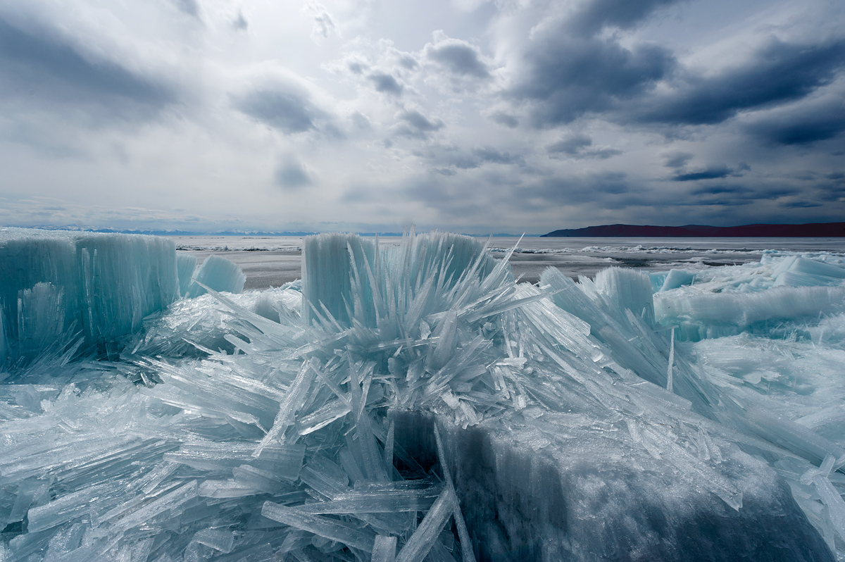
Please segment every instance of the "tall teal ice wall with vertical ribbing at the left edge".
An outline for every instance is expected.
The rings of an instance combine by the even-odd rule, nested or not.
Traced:
[[[178,297],[176,252],[159,237],[0,229],[0,360],[103,346]]]

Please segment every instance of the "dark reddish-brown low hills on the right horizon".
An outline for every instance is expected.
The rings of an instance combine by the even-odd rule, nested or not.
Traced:
[[[845,237],[845,222],[815,222],[806,225],[744,226],[651,226],[602,225],[568,228],[544,237]]]

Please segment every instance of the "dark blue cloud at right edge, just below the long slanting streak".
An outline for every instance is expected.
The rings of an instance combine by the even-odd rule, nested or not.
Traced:
[[[767,145],[810,145],[833,139],[845,131],[842,95],[771,112],[747,123],[745,130]]]

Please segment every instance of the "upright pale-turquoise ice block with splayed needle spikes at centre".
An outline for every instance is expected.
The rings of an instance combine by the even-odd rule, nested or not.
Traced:
[[[378,326],[384,336],[390,332],[387,325],[419,320],[423,310],[443,312],[447,302],[472,303],[505,278],[513,281],[507,263],[497,270],[499,262],[485,249],[472,237],[448,232],[412,234],[400,246],[384,248],[355,234],[306,237],[303,318],[309,324],[325,318],[346,327],[354,318]],[[490,277],[494,271],[498,275]]]

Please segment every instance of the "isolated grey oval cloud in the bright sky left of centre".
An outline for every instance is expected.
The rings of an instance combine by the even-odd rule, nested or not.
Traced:
[[[232,102],[238,111],[286,134],[315,130],[317,123],[328,117],[306,92],[293,85],[252,90],[234,96]]]

